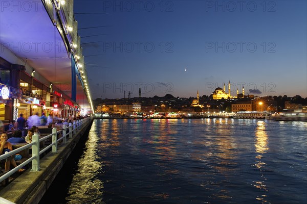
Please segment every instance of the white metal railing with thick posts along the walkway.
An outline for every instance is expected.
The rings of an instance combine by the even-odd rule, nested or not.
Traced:
[[[26,145],[19,147],[17,149],[14,149],[10,152],[7,152],[6,154],[0,155],[0,161],[4,160],[4,159],[7,160],[7,159],[10,159],[11,156],[17,154],[18,152],[32,147],[32,156],[29,159],[27,159],[26,161],[24,161],[23,163],[21,163],[20,165],[18,165],[17,167],[15,167],[15,168],[7,171],[5,174],[3,174],[0,177],[0,183],[5,181],[6,179],[8,179],[8,177],[10,175],[14,174],[19,169],[23,168],[24,166],[26,166],[30,162],[32,162],[31,171],[32,172],[39,171],[40,170],[39,156],[41,154],[43,154],[43,152],[47,151],[50,148],[52,148],[52,153],[56,154],[57,149],[58,149],[58,142],[60,142],[62,140],[63,144],[67,143],[67,136],[69,136],[69,139],[73,138],[73,136],[76,135],[77,131],[80,131],[85,126],[85,124],[87,124],[87,122],[89,122],[90,119],[92,119],[92,117],[87,117],[87,118],[84,118],[84,119],[74,121],[74,123],[70,123],[68,126],[63,125],[62,130],[59,130],[59,131],[57,131],[56,127],[54,127],[52,129],[52,133],[50,135],[45,136],[45,137],[40,138],[40,139],[39,139],[39,135],[37,133],[35,133],[32,136],[32,142],[31,143],[26,144]],[[67,132],[67,130],[69,130],[69,131]],[[57,135],[60,134],[61,132],[62,132],[62,137],[57,139]],[[48,145],[47,147],[39,150],[39,142],[46,141],[49,138],[52,138],[52,143],[50,145]]]

